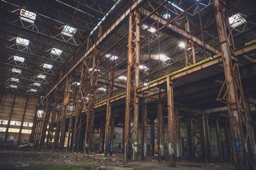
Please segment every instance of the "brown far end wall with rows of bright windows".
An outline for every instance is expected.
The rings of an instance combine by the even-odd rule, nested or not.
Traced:
[[[28,102],[26,102],[27,100]],[[20,138],[19,142],[29,141],[37,104],[37,96],[2,91],[0,101],[0,141],[4,140],[6,134],[7,141],[13,138],[15,142],[18,142],[18,138]],[[7,133],[6,130],[8,130]]]

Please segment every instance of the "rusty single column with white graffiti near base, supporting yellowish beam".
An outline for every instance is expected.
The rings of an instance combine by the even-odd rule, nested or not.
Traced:
[[[168,111],[168,153],[169,153],[169,167],[176,166],[176,120],[174,113],[174,85],[169,77],[166,78],[167,85],[167,111]]]

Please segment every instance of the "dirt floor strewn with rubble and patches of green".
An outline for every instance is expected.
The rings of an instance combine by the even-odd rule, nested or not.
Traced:
[[[146,162],[122,162],[122,154],[104,157],[102,154],[82,154],[65,151],[38,149],[34,147],[17,147],[16,145],[0,145],[1,170],[84,170],[84,169],[170,169],[167,162],[157,162],[156,157],[151,157]],[[176,162],[176,170],[185,169],[210,169],[226,170],[235,169],[230,164],[203,164],[198,162]]]

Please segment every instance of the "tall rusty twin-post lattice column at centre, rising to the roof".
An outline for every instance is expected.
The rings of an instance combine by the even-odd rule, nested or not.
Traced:
[[[124,118],[124,162],[128,154],[133,160],[138,159],[138,131],[139,131],[139,12],[129,13],[128,57],[127,57],[127,87]],[[130,132],[132,122],[133,130]],[[130,148],[130,149],[129,149]],[[129,151],[130,150],[130,151]]]

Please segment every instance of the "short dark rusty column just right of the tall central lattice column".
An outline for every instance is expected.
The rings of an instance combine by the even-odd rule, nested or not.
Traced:
[[[142,160],[146,161],[146,137],[147,137],[147,105],[142,106]]]

